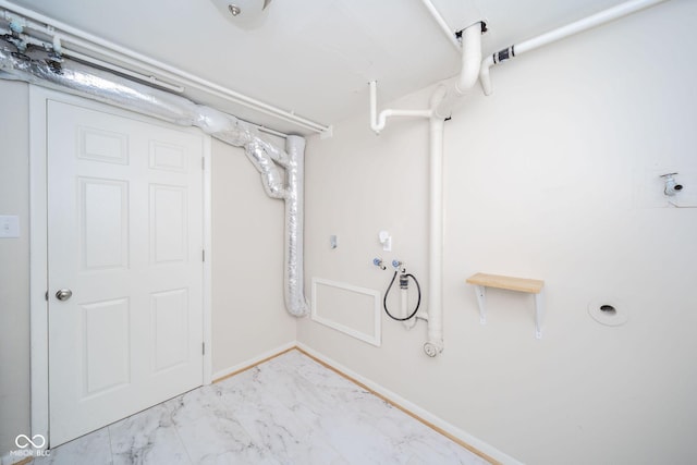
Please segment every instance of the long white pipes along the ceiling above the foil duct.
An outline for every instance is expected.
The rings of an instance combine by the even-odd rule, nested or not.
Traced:
[[[35,11],[17,7],[14,3],[11,3],[7,0],[0,0],[0,7],[5,8],[16,14],[30,19],[38,23],[44,23],[46,26],[41,24],[36,24],[30,21],[26,23],[26,27],[37,30],[41,34],[46,34],[51,37],[51,39],[58,35],[58,30],[61,32],[60,39],[65,42],[73,44],[78,46],[80,48],[85,48],[89,51],[99,53],[109,59],[119,60],[125,64],[139,68],[144,71],[155,74],[161,74],[169,79],[175,79],[183,82],[183,84],[189,85],[192,87],[196,87],[200,90],[207,91],[211,95],[216,95],[221,98],[225,98],[229,101],[233,101],[235,103],[245,106],[255,111],[258,111],[264,114],[268,114],[274,118],[278,118],[283,121],[288,121],[290,123],[296,124],[301,127],[322,133],[329,130],[329,126],[322,125],[320,123],[307,120],[302,117],[297,117],[296,114],[282,110],[280,108],[273,107],[271,105],[265,103],[260,100],[256,100],[252,97],[247,97],[243,94],[236,93],[218,84],[211,83],[209,81],[197,77],[191,73],[171,66],[169,64],[162,63],[133,50],[130,50],[125,47],[121,47],[117,44],[110,42],[108,40],[101,39],[97,36],[94,36],[89,33],[85,33],[75,27],[69,26],[61,22],[58,22],[48,16],[44,16]],[[3,16],[7,16],[3,14]]]

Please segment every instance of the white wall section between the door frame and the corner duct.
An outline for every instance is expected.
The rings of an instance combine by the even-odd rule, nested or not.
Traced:
[[[293,343],[295,318],[283,304],[283,201],[241,148],[213,139],[212,152],[215,378]]]

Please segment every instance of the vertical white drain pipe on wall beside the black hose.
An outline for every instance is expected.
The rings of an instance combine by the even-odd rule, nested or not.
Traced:
[[[443,127],[442,119],[430,119],[428,342],[424,344],[430,357],[443,351]]]

